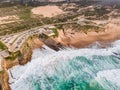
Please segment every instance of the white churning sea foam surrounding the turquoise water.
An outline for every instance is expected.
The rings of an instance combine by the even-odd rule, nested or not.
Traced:
[[[113,52],[116,52],[116,50],[120,49],[120,41],[116,41],[112,43],[113,47],[109,47],[107,49],[90,49],[90,48],[83,48],[83,49],[70,49],[67,48],[65,50],[60,50],[58,52],[48,48],[47,46],[43,46],[43,49],[36,49],[34,50],[34,53],[32,55],[32,60],[28,62],[24,66],[14,66],[13,68],[8,70],[10,79],[9,83],[12,90],[31,90],[29,88],[29,85],[27,82],[25,82],[25,79],[29,76],[41,76],[43,73],[41,72],[47,72],[49,75],[52,75],[54,72],[54,69],[52,67],[49,67],[49,65],[54,66],[58,65],[59,62],[65,62],[67,60],[70,60],[76,56],[85,56],[90,58],[92,55],[103,55],[108,56],[112,55]],[[120,72],[120,70],[118,70]],[[38,74],[39,72],[39,74]],[[120,79],[119,75],[114,75],[114,72],[117,71],[103,71],[99,72],[97,74],[96,80],[99,80],[100,77],[105,77],[107,80],[116,82],[117,79]],[[106,73],[110,74],[110,77],[107,77],[108,75]],[[106,75],[104,75],[106,74]],[[110,79],[111,77],[116,76],[116,78]]]

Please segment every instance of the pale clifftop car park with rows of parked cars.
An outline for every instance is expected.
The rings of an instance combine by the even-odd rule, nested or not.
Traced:
[[[44,28],[36,28],[34,30],[28,30],[17,34],[6,35],[1,37],[1,41],[8,47],[9,51],[17,51],[23,45],[25,40],[28,39],[28,37],[44,32],[48,31]]]

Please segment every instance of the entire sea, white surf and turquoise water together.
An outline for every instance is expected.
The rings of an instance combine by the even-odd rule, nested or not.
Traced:
[[[94,47],[94,46],[93,46]],[[120,90],[120,41],[111,47],[34,50],[31,62],[8,70],[12,90]]]

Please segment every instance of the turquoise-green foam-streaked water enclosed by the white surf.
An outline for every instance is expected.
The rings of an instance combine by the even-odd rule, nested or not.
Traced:
[[[28,77],[27,83],[30,90],[120,90],[105,78],[101,78],[104,86],[95,80],[97,72],[116,68],[120,69],[120,60],[113,56],[93,55],[91,59],[77,56],[59,62],[52,76],[44,72],[44,76]]]

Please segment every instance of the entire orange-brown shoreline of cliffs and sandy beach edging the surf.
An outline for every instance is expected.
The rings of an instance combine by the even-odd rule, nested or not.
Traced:
[[[119,21],[119,20],[118,20]],[[119,25],[120,23],[118,23]],[[73,34],[74,33],[74,34]],[[18,60],[6,61],[3,64],[3,67],[5,69],[5,72],[3,74],[4,80],[3,80],[3,90],[10,90],[9,87],[9,76],[7,74],[7,70],[15,65],[24,65],[28,61],[31,60],[32,51],[35,48],[41,48],[42,45],[48,45],[57,47],[57,43],[60,43],[62,46],[66,47],[75,47],[75,48],[83,48],[86,47],[94,42],[113,42],[115,40],[120,39],[120,27],[108,24],[106,26],[105,31],[95,32],[95,31],[89,31],[87,34],[83,32],[75,32],[72,30],[66,30],[63,32],[62,30],[59,30],[59,36],[56,38],[51,38],[55,43],[53,43],[51,40],[40,40],[38,37],[33,38],[32,40],[28,40],[27,43],[29,45],[29,48],[26,48],[24,50],[21,50],[22,54],[24,54],[24,59],[21,63],[18,62]],[[45,43],[47,41],[47,43]],[[52,43],[51,43],[52,42]],[[23,46],[24,47],[24,46]],[[106,46],[103,46],[105,48]]]

